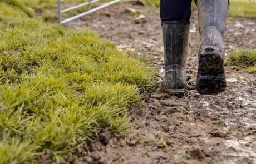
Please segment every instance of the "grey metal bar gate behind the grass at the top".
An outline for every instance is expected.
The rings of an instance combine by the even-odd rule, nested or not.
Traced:
[[[61,2],[62,1],[65,1],[65,0],[58,0],[58,22],[61,23],[61,24],[70,22],[70,21],[72,21],[74,19],[77,19],[77,18],[81,18],[83,16],[86,16],[87,14],[90,14],[92,12],[98,11],[99,9],[105,8],[107,6],[110,6],[111,4],[115,4],[115,3],[117,3],[117,2],[119,2],[121,0],[113,0],[113,1],[107,2],[105,4],[102,4],[101,6],[96,7],[96,8],[91,8],[91,4],[95,3],[95,2],[99,2],[100,0],[88,0],[85,3],[78,4],[77,6],[73,6],[73,7],[70,7],[70,8],[63,9],[63,10],[61,9]],[[78,14],[76,16],[73,16],[73,17],[70,17],[70,18],[62,20],[62,13],[65,13],[65,12],[68,12],[68,11],[71,11],[73,9],[77,9],[77,8],[80,8],[80,7],[83,7],[83,6],[88,6],[88,11],[80,13],[80,14]]]

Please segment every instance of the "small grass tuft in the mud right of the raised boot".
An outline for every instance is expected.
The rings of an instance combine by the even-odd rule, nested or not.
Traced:
[[[228,56],[227,64],[230,66],[247,67],[250,73],[256,72],[256,51],[248,48],[240,48]]]

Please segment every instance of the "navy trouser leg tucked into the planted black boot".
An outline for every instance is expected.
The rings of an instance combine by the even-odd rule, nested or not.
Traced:
[[[161,0],[161,20],[189,22],[191,16],[191,3],[192,0]]]

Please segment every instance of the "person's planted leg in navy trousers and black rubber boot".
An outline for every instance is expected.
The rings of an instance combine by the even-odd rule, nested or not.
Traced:
[[[185,93],[190,8],[191,0],[161,0],[165,89],[169,94],[176,96],[183,96]]]

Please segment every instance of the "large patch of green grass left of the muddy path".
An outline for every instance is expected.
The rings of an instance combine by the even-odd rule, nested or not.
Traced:
[[[129,132],[126,109],[156,71],[88,29],[43,23],[21,1],[0,8],[1,164],[63,161],[106,127]]]

